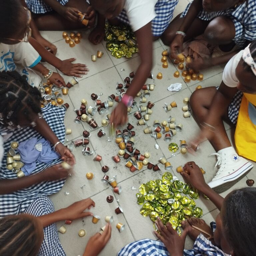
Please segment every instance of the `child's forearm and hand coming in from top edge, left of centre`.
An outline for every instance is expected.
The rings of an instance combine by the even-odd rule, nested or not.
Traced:
[[[56,0],[43,0],[47,5],[51,6],[51,8],[56,11],[59,15],[64,17],[65,19],[77,22],[79,20],[78,12],[80,12],[77,8],[64,6]]]

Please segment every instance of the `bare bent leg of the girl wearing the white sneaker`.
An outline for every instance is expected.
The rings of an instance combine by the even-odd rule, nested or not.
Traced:
[[[215,93],[216,87],[207,87],[194,91],[190,97],[190,106],[193,111],[193,117],[198,123],[199,127],[201,127],[200,123],[205,122],[208,117],[209,108],[212,104],[212,99]],[[221,106],[219,107],[221,108]],[[231,143],[228,139],[228,135],[223,124],[223,119],[229,120],[228,111],[226,112],[225,116],[218,120],[218,122],[214,125],[215,133],[210,142],[216,151],[231,147]]]

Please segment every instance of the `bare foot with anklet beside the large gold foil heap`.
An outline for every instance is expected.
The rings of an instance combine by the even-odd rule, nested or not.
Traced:
[[[188,231],[188,236],[195,241],[198,235],[202,234],[206,238],[213,236],[213,232],[211,228],[205,223],[204,220],[199,218],[190,218],[185,221],[181,222],[182,228]],[[200,228],[202,231],[197,230],[196,228],[193,228],[192,226],[196,228]]]

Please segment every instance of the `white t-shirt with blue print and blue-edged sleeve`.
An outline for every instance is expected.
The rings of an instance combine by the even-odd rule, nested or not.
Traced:
[[[38,87],[41,77],[31,68],[41,61],[41,56],[28,42],[18,44],[0,43],[0,71],[16,70],[25,75],[30,85]]]

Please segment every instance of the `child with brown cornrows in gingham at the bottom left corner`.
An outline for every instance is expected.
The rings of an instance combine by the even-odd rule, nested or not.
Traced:
[[[65,256],[56,222],[92,216],[91,212],[85,211],[92,206],[95,206],[94,201],[87,198],[54,211],[48,197],[37,198],[23,214],[0,219],[0,255]],[[84,256],[97,256],[110,236],[111,226],[106,224],[102,234],[96,233],[89,239]]]

